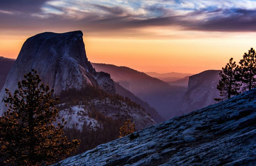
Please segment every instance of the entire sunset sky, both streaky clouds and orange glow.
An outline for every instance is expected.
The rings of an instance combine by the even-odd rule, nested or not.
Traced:
[[[198,73],[255,47],[253,0],[0,1],[0,56],[16,58],[42,32],[82,30],[94,63]]]

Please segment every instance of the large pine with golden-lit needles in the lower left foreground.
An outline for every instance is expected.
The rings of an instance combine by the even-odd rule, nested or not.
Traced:
[[[9,109],[0,117],[0,155],[12,165],[48,165],[69,155],[79,141],[68,142],[62,136],[64,118],[57,126],[52,124],[59,116],[54,108],[59,98],[52,99],[53,89],[40,84],[35,70],[24,78],[13,95],[5,89],[8,97],[4,102]]]

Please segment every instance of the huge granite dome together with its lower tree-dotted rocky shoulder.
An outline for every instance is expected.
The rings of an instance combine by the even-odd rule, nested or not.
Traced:
[[[45,32],[28,38],[4,87],[13,92],[18,88],[18,81],[31,69],[36,69],[42,82],[52,87],[55,95],[60,95],[60,115],[66,117],[69,127],[81,129],[84,124],[95,122],[100,128],[103,122],[99,122],[97,116],[89,117],[91,108],[114,120],[130,118],[137,129],[156,124],[138,104],[115,94],[115,85],[108,73],[94,70],[86,57],[81,31]],[[4,96],[3,88],[0,114],[6,111]],[[93,126],[97,125],[90,125]]]

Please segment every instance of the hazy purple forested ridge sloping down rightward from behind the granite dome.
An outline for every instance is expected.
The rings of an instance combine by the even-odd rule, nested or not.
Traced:
[[[92,66],[96,71],[109,73],[114,81],[147,102],[165,119],[170,119],[177,114],[186,88],[171,86],[160,79],[125,66],[95,63],[92,63]]]

